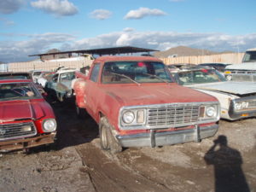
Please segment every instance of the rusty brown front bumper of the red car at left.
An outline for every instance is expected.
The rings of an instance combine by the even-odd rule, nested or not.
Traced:
[[[47,135],[41,135],[38,137],[29,137],[23,139],[15,139],[9,141],[0,142],[0,152],[7,152],[12,150],[18,150],[23,148],[32,148],[39,145],[49,144],[55,142],[56,132],[51,132]]]

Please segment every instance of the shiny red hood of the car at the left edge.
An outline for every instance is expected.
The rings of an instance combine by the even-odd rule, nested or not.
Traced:
[[[0,103],[0,121],[17,119],[39,119],[44,117],[44,104],[41,102],[4,101]]]

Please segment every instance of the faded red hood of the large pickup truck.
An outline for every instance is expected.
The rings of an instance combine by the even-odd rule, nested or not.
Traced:
[[[121,91],[120,91],[121,90]],[[197,90],[178,84],[141,84],[108,86],[105,91],[124,105],[150,105],[173,102],[209,102],[217,101]]]

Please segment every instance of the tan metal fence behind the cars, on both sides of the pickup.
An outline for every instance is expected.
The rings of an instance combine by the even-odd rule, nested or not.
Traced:
[[[241,62],[244,53],[230,53],[221,55],[200,55],[200,56],[182,56],[174,58],[160,58],[166,65],[177,63],[193,63],[200,64],[206,62],[220,62],[237,64]],[[28,72],[31,70],[53,71],[57,67],[72,67],[81,68],[91,65],[90,58],[85,58],[83,61],[31,61],[31,62],[15,62],[9,63],[10,72]]]

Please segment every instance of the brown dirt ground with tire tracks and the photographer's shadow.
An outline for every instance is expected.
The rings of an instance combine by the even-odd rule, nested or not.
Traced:
[[[53,108],[54,148],[0,154],[1,192],[256,191],[256,119],[221,120],[201,143],[109,154],[93,119],[78,119],[73,105]]]

